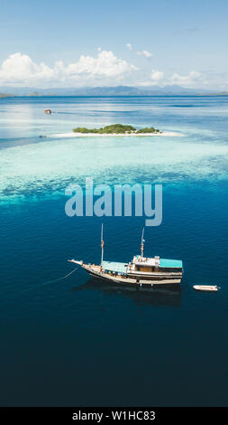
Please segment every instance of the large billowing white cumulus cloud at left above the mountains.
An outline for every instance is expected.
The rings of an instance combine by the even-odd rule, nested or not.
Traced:
[[[50,68],[45,63],[35,63],[27,54],[14,53],[6,59],[0,68],[0,84],[38,86],[60,83],[80,86],[83,84],[99,84],[123,80],[125,76],[137,68],[123,59],[114,56],[111,51],[100,51],[96,57],[80,56],[76,62],[64,66],[62,61],[55,62]]]

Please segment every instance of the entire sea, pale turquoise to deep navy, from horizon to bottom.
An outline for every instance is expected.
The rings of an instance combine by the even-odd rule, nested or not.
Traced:
[[[227,97],[0,99],[1,405],[227,405],[227,118]],[[53,136],[115,122],[182,136]],[[179,290],[46,283],[100,260],[101,222],[105,260],[140,250],[143,217],[65,214],[86,176],[163,184],[145,254],[183,260]]]

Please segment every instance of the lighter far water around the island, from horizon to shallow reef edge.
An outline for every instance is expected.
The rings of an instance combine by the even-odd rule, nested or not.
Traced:
[[[43,113],[46,105],[51,116]],[[3,99],[0,201],[61,193],[85,175],[108,184],[226,179],[227,112],[226,98],[215,97]],[[183,136],[52,137],[116,121]]]

